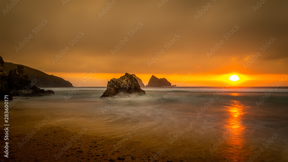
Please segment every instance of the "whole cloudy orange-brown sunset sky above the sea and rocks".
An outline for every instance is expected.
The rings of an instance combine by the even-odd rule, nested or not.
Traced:
[[[186,71],[194,74],[183,86],[222,86],[232,74],[240,77],[235,86],[272,86],[287,73],[288,1],[265,1],[256,11],[251,0],[167,1],[160,8],[158,2],[116,1],[100,17],[109,1],[21,1],[0,16],[0,55],[73,85],[97,69],[85,86],[106,86],[125,73],[145,85],[151,75],[177,85]]]

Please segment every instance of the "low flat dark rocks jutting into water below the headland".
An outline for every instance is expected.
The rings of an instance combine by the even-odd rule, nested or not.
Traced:
[[[32,86],[29,89],[24,90],[18,90],[12,93],[12,96],[25,96],[25,97],[32,97],[32,96],[48,96],[48,95],[54,95],[54,91],[44,89],[40,89],[36,86]]]

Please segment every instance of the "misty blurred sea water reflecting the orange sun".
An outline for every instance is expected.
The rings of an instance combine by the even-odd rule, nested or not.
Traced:
[[[22,97],[10,105],[11,116],[23,121],[16,128],[32,129],[49,114],[49,125],[70,130],[85,126],[90,135],[122,137],[131,133],[133,140],[159,144],[159,148],[181,130],[184,133],[173,143],[203,156],[249,161],[263,148],[255,161],[288,161],[286,87],[145,87],[145,96],[125,99],[100,99],[106,87],[44,89],[55,95]],[[269,90],[273,93],[257,107],[259,97]],[[276,132],[279,136],[275,138]]]

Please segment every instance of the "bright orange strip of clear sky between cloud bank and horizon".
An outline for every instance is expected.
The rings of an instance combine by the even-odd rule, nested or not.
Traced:
[[[81,84],[82,86],[106,86],[107,81],[111,78],[120,78],[124,74],[108,74],[97,73],[89,75],[90,73],[53,73],[55,76],[62,76],[62,78],[69,80],[74,86]],[[240,80],[233,82],[228,78],[232,74],[211,75],[211,74],[192,74],[190,78],[186,74],[135,74],[139,77],[144,85],[148,84],[152,75],[158,78],[166,78],[171,84],[177,86],[275,86],[275,82],[282,80],[283,75],[278,74],[262,74],[262,75],[243,75],[237,74]],[[187,75],[189,77],[189,75]],[[91,78],[90,78],[91,77]],[[187,79],[187,80],[186,80]],[[286,79],[286,78],[284,78]],[[280,84],[281,83],[281,84]],[[288,78],[283,83],[280,81],[280,86],[288,86]]]

